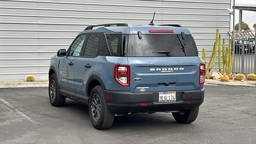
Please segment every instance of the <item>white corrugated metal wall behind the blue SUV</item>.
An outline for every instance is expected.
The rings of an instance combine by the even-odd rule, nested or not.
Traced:
[[[208,58],[216,28],[227,39],[230,0],[0,0],[0,80],[48,79],[50,58],[88,25],[181,24]],[[215,67],[218,67],[216,64]]]

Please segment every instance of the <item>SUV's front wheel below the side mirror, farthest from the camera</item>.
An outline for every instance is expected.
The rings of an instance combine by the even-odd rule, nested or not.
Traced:
[[[56,74],[50,76],[48,92],[52,106],[63,106],[65,104],[66,98],[60,95]]]

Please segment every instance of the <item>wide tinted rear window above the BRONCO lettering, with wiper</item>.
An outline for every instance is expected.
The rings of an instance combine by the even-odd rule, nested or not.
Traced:
[[[181,44],[184,45],[184,51]],[[127,56],[166,56],[153,53],[160,51],[169,51],[170,56],[198,56],[191,35],[185,35],[184,40],[181,35],[171,34],[142,34],[142,39],[137,34],[129,35]]]

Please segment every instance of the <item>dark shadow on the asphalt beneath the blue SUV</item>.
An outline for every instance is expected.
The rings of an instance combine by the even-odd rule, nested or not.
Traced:
[[[65,103],[65,109],[76,113],[76,115],[82,115],[84,117],[86,124],[90,124],[89,110],[88,106],[68,100]],[[88,122],[87,122],[88,121]],[[193,124],[185,124],[193,125]],[[88,127],[87,125],[84,125]],[[116,115],[114,119],[114,123],[109,130],[115,129],[143,129],[143,128],[160,128],[160,129],[172,129],[172,128],[180,128],[181,124],[177,123],[172,114],[166,112],[156,112],[153,114],[148,113],[135,113],[129,115]]]

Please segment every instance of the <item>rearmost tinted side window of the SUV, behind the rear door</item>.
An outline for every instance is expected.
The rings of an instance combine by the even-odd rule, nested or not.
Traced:
[[[106,36],[112,56],[122,56],[122,34],[107,34]]]

